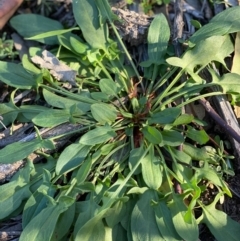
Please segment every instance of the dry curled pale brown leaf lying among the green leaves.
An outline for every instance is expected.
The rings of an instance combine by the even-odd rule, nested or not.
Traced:
[[[72,70],[66,64],[60,62],[58,58],[47,50],[42,52],[42,57],[34,56],[31,58],[33,63],[39,64],[41,68],[50,70],[50,73],[59,81],[67,81],[76,86],[75,78],[77,72]]]

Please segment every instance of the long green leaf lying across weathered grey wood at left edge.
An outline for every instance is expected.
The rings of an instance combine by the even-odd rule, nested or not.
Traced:
[[[13,163],[22,160],[37,149],[54,149],[55,146],[50,140],[35,139],[31,142],[15,142],[0,150],[2,163]]]

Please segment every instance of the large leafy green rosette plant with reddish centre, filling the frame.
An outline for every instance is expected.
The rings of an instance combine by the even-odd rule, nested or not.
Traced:
[[[106,0],[74,0],[73,10],[79,28],[34,14],[11,20],[19,34],[48,51],[30,48],[21,65],[0,62],[1,80],[16,88],[9,103],[0,104],[3,123],[32,122],[37,133],[0,150],[2,163],[26,160],[0,186],[0,219],[22,212],[21,241],[196,241],[200,223],[219,241],[238,240],[239,223],[216,209],[225,194],[231,197],[223,177],[232,174],[231,156],[222,143],[209,146],[203,122],[183,110],[208,96],[239,97],[240,76],[218,76],[212,66],[225,66],[234,51],[229,34],[240,31],[240,7],[196,32],[181,58],[168,56],[169,26],[156,16],[148,59],[137,66]],[[27,29],[26,20],[32,22]],[[200,77],[203,69],[211,81]],[[214,85],[221,91],[208,92]],[[33,104],[14,102],[24,89],[36,92]],[[48,138],[38,129],[64,123],[77,128]],[[71,143],[54,151],[70,135]],[[45,162],[33,164],[33,152]],[[207,201],[209,184],[217,194]]]

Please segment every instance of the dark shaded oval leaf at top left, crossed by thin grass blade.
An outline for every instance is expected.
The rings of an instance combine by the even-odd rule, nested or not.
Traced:
[[[27,28],[26,23],[30,23]],[[10,24],[24,38],[63,29],[59,21],[38,14],[19,14],[10,20]],[[38,39],[38,41],[49,45],[58,44],[57,37]]]

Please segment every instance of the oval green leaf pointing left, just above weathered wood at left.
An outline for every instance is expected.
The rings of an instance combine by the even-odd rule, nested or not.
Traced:
[[[69,109],[48,109],[36,115],[32,122],[42,127],[54,127],[69,122],[71,117]]]

